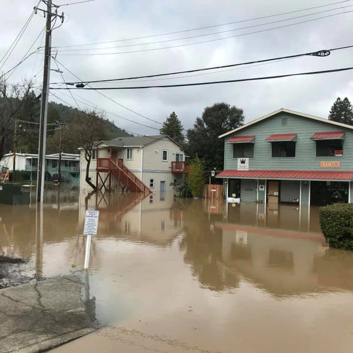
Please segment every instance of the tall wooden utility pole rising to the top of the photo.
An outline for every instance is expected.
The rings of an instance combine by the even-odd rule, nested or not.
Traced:
[[[43,1],[43,0],[42,0]],[[48,95],[49,95],[49,79],[50,79],[50,58],[52,52],[52,16],[60,17],[61,23],[64,22],[64,13],[58,15],[58,6],[54,7],[55,13],[52,13],[52,0],[43,1],[47,4],[47,10],[42,10],[39,7],[35,7],[37,13],[38,10],[44,13],[44,17],[47,17],[46,24],[46,37],[45,37],[45,49],[44,49],[44,70],[43,70],[43,91],[41,99],[41,117],[39,127],[39,145],[38,145],[38,169],[37,169],[37,201],[43,203],[44,193],[44,179],[45,179],[45,156],[46,156],[46,144],[47,144],[47,118],[48,118]]]

